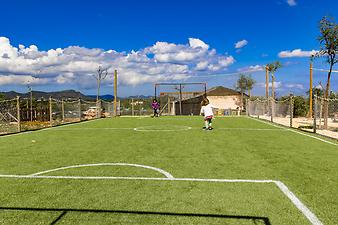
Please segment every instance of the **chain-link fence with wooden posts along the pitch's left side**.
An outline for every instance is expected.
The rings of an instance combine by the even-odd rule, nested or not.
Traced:
[[[0,135],[36,130],[82,120],[115,116],[114,103],[63,99],[20,99],[0,101]],[[121,115],[119,102],[116,115]]]

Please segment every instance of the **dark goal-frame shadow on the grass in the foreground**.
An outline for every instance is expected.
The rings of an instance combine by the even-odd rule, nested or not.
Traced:
[[[201,218],[223,218],[252,220],[253,223],[263,222],[265,225],[271,225],[268,217],[260,216],[242,216],[242,215],[222,215],[222,214],[201,214],[201,213],[173,213],[173,212],[148,212],[148,211],[129,211],[129,210],[105,210],[105,209],[71,209],[71,208],[21,208],[21,207],[0,207],[0,210],[12,211],[38,211],[38,212],[61,212],[61,214],[53,220],[50,225],[54,225],[62,220],[68,212],[82,213],[115,213],[115,214],[131,214],[131,215],[159,215],[159,216],[181,216],[181,217],[201,217]]]

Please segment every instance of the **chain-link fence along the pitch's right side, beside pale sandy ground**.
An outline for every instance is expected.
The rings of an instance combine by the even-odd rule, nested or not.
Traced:
[[[297,97],[280,101],[274,101],[271,98],[269,100],[251,99],[247,103],[247,114],[280,125],[338,139],[338,99],[315,96],[313,116],[301,109],[295,100]]]

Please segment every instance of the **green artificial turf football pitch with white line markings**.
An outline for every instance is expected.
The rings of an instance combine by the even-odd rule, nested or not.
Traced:
[[[337,224],[338,145],[248,117],[0,137],[0,224]]]

